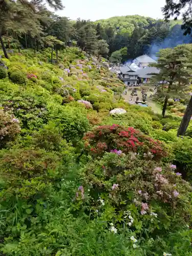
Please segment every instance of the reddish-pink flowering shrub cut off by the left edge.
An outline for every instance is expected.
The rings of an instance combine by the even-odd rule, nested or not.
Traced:
[[[19,120],[0,110],[0,148],[4,147],[8,141],[14,140],[19,132]]]

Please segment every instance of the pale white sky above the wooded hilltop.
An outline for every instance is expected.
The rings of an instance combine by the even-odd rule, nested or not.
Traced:
[[[65,9],[56,14],[70,19],[103,19],[113,16],[141,15],[163,18],[165,0],[62,0]]]

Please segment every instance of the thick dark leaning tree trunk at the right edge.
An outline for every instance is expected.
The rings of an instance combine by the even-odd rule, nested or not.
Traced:
[[[179,129],[178,129],[178,132],[177,132],[177,136],[181,136],[181,135],[185,134],[185,132],[187,130],[187,127],[188,127],[188,124],[190,122],[191,116],[192,116],[192,96],[189,100],[189,103],[188,103],[187,108],[185,110],[185,114],[184,114],[183,119],[180,123]]]

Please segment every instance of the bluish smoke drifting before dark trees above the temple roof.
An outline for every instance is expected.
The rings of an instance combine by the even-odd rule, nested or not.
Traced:
[[[150,57],[157,60],[156,54],[161,49],[174,48],[182,44],[191,44],[192,37],[190,35],[183,35],[183,30],[180,25],[175,25],[170,31],[169,35],[162,42],[154,42],[150,47]]]

